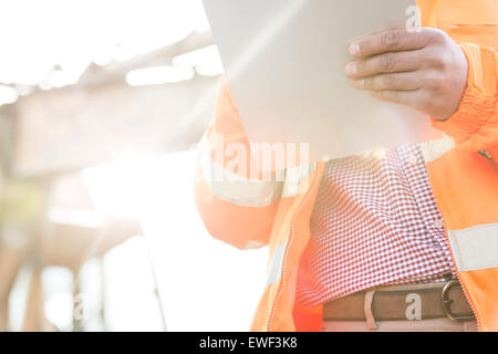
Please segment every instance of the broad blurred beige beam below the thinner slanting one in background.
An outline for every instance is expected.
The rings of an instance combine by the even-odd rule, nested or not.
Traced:
[[[12,173],[45,176],[189,148],[214,111],[217,77],[157,86],[71,86],[21,97]]]

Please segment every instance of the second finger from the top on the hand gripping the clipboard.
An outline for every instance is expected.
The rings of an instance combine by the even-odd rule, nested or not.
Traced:
[[[409,51],[357,59],[346,64],[344,73],[347,77],[359,79],[381,73],[415,71],[422,65],[422,51]]]

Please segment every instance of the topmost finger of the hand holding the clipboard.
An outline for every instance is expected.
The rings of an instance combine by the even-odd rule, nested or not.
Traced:
[[[370,56],[380,53],[418,50],[426,46],[432,39],[433,31],[422,29],[390,30],[361,39],[350,45],[350,54],[355,58]]]

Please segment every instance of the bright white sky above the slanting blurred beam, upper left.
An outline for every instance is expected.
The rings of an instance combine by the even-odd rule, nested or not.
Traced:
[[[209,28],[201,0],[0,0],[0,84],[73,83],[91,63],[128,60]]]

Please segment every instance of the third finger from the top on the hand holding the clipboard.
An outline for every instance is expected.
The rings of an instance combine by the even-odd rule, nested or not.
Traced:
[[[423,87],[423,83],[421,72],[381,74],[352,81],[355,88],[369,91],[414,91]]]

